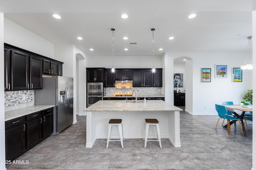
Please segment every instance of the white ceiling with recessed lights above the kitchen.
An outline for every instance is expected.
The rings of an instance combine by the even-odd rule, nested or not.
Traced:
[[[112,27],[114,56],[152,55],[153,27],[155,56],[246,51],[255,9],[256,0],[0,0],[8,20],[54,44],[74,44],[90,56],[112,56]],[[55,13],[61,19],[53,18]],[[127,19],[121,18],[124,13]],[[189,19],[192,13],[196,18]]]

